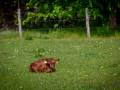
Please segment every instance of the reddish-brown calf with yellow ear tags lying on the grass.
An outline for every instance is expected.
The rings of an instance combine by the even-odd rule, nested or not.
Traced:
[[[36,72],[36,73],[48,73],[48,72],[55,72],[55,63],[58,62],[60,59],[40,59],[31,63],[29,67],[29,72]]]

